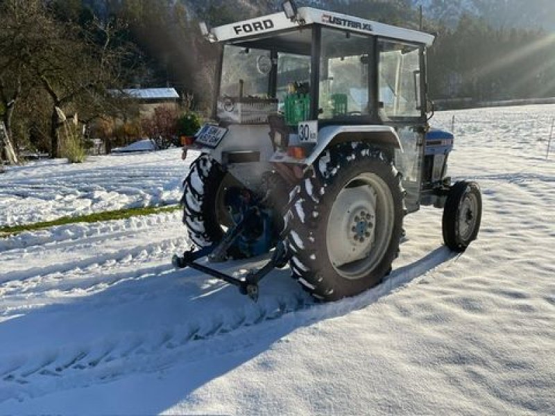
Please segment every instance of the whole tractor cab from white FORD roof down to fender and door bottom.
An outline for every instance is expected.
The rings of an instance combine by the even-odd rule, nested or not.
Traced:
[[[443,160],[441,166],[432,160],[422,175],[425,53],[433,35],[314,8],[204,29],[208,40],[223,46],[213,114],[220,130],[207,137],[213,146],[228,135],[227,144],[216,146],[223,155],[215,152],[224,164],[258,163],[230,164],[241,182],[256,186],[251,173],[266,171],[267,162],[310,166],[330,144],[349,137],[392,153],[409,211],[421,201],[441,204],[433,194],[420,198],[421,190],[443,180],[437,171],[444,168]],[[235,135],[241,144],[230,139]],[[228,146],[241,155],[229,157]]]

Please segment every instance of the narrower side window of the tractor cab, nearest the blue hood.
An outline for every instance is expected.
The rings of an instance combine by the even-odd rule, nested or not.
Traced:
[[[386,116],[418,117],[420,103],[420,48],[379,41],[379,101]]]

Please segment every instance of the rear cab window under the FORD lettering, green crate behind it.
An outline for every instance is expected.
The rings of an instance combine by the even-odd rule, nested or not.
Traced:
[[[280,112],[289,125],[309,117],[311,31],[291,31],[225,45],[217,116],[266,123]]]

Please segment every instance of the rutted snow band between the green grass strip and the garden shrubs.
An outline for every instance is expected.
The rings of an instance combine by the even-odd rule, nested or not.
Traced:
[[[0,175],[0,227],[94,212],[178,203],[187,164],[181,150],[30,162]]]

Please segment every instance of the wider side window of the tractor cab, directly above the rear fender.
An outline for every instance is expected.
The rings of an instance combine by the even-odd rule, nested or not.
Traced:
[[[320,118],[368,114],[368,52],[364,35],[322,29]]]

